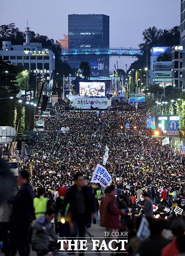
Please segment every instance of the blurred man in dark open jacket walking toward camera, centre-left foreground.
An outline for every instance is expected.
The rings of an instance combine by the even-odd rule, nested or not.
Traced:
[[[85,186],[83,173],[76,172],[74,181],[74,186],[68,189],[64,197],[62,215],[69,203],[68,218],[72,227],[71,237],[76,237],[77,233],[78,237],[85,237],[85,227],[91,221],[91,212],[93,212],[93,218],[96,217],[94,195],[91,189]],[[73,253],[74,251],[71,252]]]

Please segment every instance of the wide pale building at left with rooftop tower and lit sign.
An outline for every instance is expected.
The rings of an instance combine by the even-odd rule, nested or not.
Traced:
[[[47,80],[55,69],[55,54],[50,49],[42,48],[42,43],[30,42],[29,27],[25,31],[26,42],[23,45],[11,45],[11,41],[3,41],[0,56],[3,60],[10,61],[13,65],[24,66],[41,74]]]

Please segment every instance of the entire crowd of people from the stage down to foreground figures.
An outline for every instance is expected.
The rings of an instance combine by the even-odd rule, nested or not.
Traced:
[[[44,120],[45,130],[48,132],[36,136],[32,143],[26,145],[24,154],[21,155],[23,177],[20,175],[19,179],[23,181],[19,186],[24,189],[23,185],[28,186],[28,177],[25,176],[24,170],[31,169],[26,191],[32,188],[33,198],[35,197],[33,203],[27,201],[29,212],[33,212],[33,216],[27,220],[24,230],[20,224],[24,217],[17,216],[20,209],[24,212],[24,205],[19,202],[20,197],[16,195],[8,205],[13,208],[14,218],[18,218],[14,220],[16,225],[13,225],[18,236],[27,232],[24,238],[28,239],[28,227],[36,218],[32,225],[32,246],[38,255],[51,250],[52,245],[43,242],[48,239],[47,230],[51,230],[53,238],[56,234],[61,237],[75,237],[80,227],[78,235],[84,237],[88,231],[86,227],[90,227],[95,220],[97,224],[100,221],[100,225],[106,227],[107,231],[118,229],[128,232],[129,255],[166,256],[184,252],[181,246],[185,231],[184,159],[172,146],[162,146],[161,138],[151,138],[150,130],[146,128],[146,119],[151,113],[144,104],[139,104],[137,109],[132,104],[122,104],[128,109],[70,111],[67,103],[60,102],[54,106],[49,105],[51,111],[56,113],[55,116],[37,117],[37,120]],[[126,128],[126,123],[129,123],[129,128]],[[69,131],[64,131],[63,127],[69,127]],[[109,148],[109,156],[105,168],[112,178],[111,187],[108,188],[91,182],[97,163],[103,163],[106,145]],[[83,184],[84,180],[86,186]],[[20,193],[21,189],[18,191],[19,196]],[[97,201],[100,204],[100,216]],[[111,204],[111,207],[108,207],[108,204]],[[181,214],[174,211],[176,206],[182,209]],[[110,211],[108,215],[110,208],[114,209],[115,213]],[[2,207],[0,227],[1,230],[7,231],[8,229],[2,229],[1,226],[1,222],[4,222],[1,219],[1,209]],[[12,209],[9,213],[12,213]],[[117,214],[116,218],[113,218],[114,214]],[[50,223],[54,216],[55,234]],[[151,232],[145,240],[137,237],[142,216],[147,219]],[[64,223],[61,222],[62,217]],[[116,225],[111,219],[115,219]],[[175,227],[174,221],[177,221]],[[167,234],[164,237],[165,229],[171,229],[174,236],[171,233],[170,237],[167,237]],[[39,243],[35,230],[42,231]],[[165,248],[162,251],[173,237],[175,252],[169,252]],[[6,243],[8,242],[5,241]],[[28,241],[25,241],[25,244],[28,244]],[[148,246],[149,244],[151,246]],[[28,248],[25,246],[22,251],[21,246],[18,243],[19,254],[28,256]],[[15,249],[15,243],[12,248]],[[6,251],[6,256],[9,253],[9,250]],[[11,252],[12,254],[15,255]]]

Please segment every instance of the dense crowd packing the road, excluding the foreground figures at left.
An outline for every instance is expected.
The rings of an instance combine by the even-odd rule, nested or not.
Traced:
[[[184,160],[171,145],[162,146],[161,138],[151,138],[146,128],[146,119],[151,113],[144,104],[139,104],[138,109],[128,103],[116,103],[115,106],[114,111],[70,111],[69,104],[64,102],[54,106],[49,104],[56,115],[37,117],[37,120],[44,120],[46,132],[26,146],[21,155],[22,169],[31,169],[30,184],[35,194],[41,187],[45,189],[42,192],[47,198],[47,207],[56,207],[57,198],[65,195],[61,188],[72,188],[77,172],[83,174],[85,185],[100,203],[107,194],[113,192],[100,184],[91,183],[91,178],[97,163],[103,163],[107,145],[109,157],[105,168],[112,177],[111,184],[116,188],[118,208],[125,209],[120,221],[122,228],[129,234],[127,251],[129,255],[136,255],[137,252],[141,256],[153,255],[146,253],[145,240],[139,243],[137,240],[140,215],[145,214],[148,218],[152,235],[161,235],[163,229],[170,229],[174,218],[184,218]],[[127,106],[127,110],[121,110],[122,106]],[[129,128],[126,128],[126,123],[129,123]],[[69,131],[63,127],[69,127]],[[183,210],[182,214],[174,212],[174,203]],[[77,212],[80,212],[78,208]],[[97,223],[98,210],[99,205],[96,203],[93,211],[96,216],[93,217],[96,217]],[[52,215],[51,212],[49,214]],[[150,220],[153,214],[159,215],[162,222],[155,220],[153,224]],[[164,224],[164,220],[168,223]],[[180,226],[185,230],[183,225]],[[60,230],[56,228],[58,232]],[[181,235],[181,232],[174,235]],[[179,239],[181,241],[182,238]],[[151,244],[158,242],[155,239],[148,241]],[[162,247],[168,243],[169,240],[163,241],[163,246],[159,246],[159,252],[154,255],[160,255]],[[140,249],[138,244],[142,245]],[[176,251],[180,253],[181,249]]]

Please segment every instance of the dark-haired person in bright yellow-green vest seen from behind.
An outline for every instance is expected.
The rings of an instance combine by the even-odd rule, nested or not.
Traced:
[[[46,194],[44,187],[39,187],[36,192],[36,197],[33,199],[33,206],[35,209],[35,218],[38,219],[43,216],[47,210],[48,199],[44,198]]]

